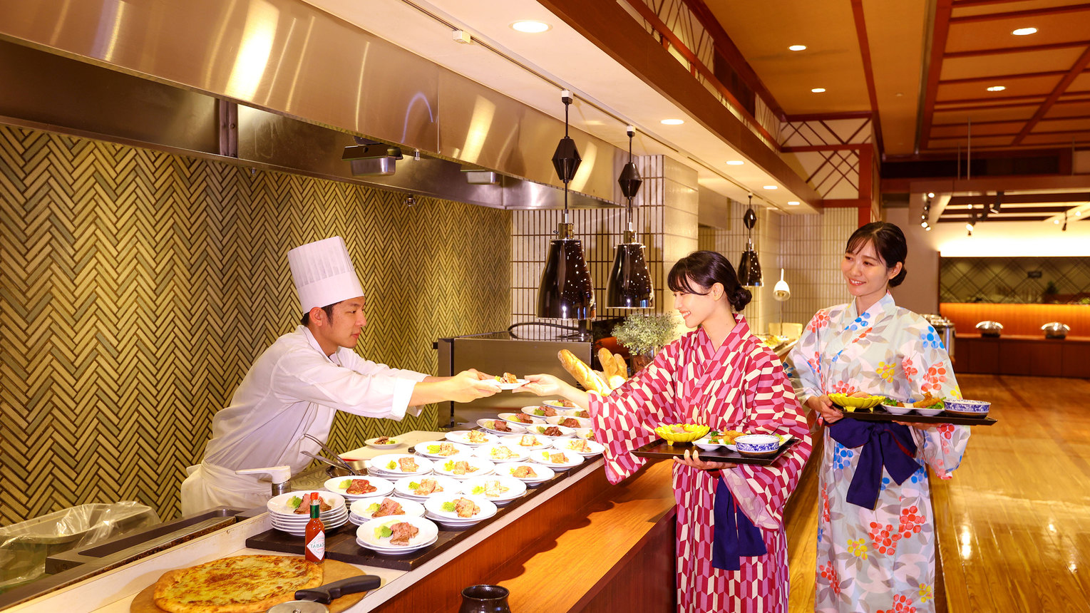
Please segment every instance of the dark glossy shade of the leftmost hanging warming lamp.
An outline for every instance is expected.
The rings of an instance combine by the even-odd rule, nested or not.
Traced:
[[[537,316],[554,320],[593,320],[594,286],[583,259],[582,242],[554,239],[537,288]]]

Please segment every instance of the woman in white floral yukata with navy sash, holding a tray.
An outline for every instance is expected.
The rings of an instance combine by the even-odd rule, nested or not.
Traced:
[[[840,272],[852,301],[819,311],[791,351],[796,395],[824,432],[818,522],[819,613],[935,610],[935,532],[927,466],[949,479],[969,429],[841,419],[829,394],[901,401],[960,397],[935,329],[897,306],[900,228],[876,221],[848,239]]]

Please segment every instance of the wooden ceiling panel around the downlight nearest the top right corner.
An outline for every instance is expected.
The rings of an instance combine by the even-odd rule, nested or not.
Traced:
[[[996,7],[1001,5],[994,5],[991,13],[1000,12],[995,10]],[[1002,13],[1007,14],[1007,11],[1004,9]],[[946,38],[947,53],[1069,43],[1087,39],[1087,34],[1090,33],[1090,4],[1082,4],[1077,11],[1055,14],[1026,14],[969,22],[957,20],[956,14],[950,19],[949,35]],[[1038,33],[1029,36],[1010,34],[1019,27],[1036,27]]]

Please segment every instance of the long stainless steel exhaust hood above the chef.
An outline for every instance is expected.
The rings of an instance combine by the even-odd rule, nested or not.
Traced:
[[[546,155],[561,121],[303,2],[0,0],[0,39],[15,44],[0,43],[0,121],[486,206],[562,206]],[[235,149],[218,143],[221,123]],[[340,159],[353,135],[404,159],[353,177],[356,160]],[[625,152],[571,135],[595,152],[572,206],[619,203]],[[499,177],[471,183],[463,168]]]

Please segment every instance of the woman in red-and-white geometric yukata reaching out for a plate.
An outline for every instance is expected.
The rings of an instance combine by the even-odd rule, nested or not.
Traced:
[[[783,508],[810,456],[801,407],[776,354],[754,337],[741,311],[750,292],[730,262],[698,251],[669,273],[674,306],[697,328],[667,345],[608,396],[559,378],[530,375],[525,390],[561,396],[590,411],[606,447],[611,483],[644,460],[630,452],[652,442],[657,425],[784,434],[800,442],[771,466],[675,459],[678,611],[787,612],[787,541]]]

